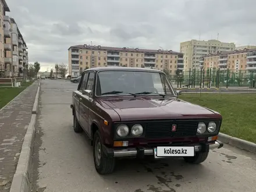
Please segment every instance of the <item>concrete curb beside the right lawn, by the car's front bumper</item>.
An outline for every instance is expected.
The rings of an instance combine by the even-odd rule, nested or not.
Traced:
[[[218,134],[218,140],[220,140],[223,143],[230,144],[234,147],[240,148],[242,150],[256,153],[256,144],[250,141],[242,140],[241,138],[237,137],[232,137],[224,133]]]

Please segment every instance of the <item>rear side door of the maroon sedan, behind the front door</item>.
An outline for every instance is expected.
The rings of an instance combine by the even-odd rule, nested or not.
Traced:
[[[78,88],[78,98],[79,98],[79,122],[81,127],[84,129],[84,131],[87,130],[87,121],[84,119],[84,113],[85,111],[88,110],[84,107],[83,104],[83,90],[86,90],[86,84],[88,80],[88,72],[84,73],[83,76],[81,77],[81,82],[79,83],[79,88]]]

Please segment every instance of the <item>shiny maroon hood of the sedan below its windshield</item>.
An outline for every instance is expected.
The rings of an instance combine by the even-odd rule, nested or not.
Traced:
[[[102,98],[120,120],[221,118],[219,113],[177,98]]]

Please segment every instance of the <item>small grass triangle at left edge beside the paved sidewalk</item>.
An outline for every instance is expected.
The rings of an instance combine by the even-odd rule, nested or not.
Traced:
[[[0,87],[0,109],[12,101],[19,95],[26,87],[29,87],[34,81],[29,83],[22,83],[22,87]]]

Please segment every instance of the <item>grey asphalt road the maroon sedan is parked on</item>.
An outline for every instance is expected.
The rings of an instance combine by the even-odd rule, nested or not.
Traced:
[[[125,159],[111,175],[98,175],[88,138],[72,128],[76,88],[68,81],[42,80],[31,191],[255,191],[256,155],[229,145],[211,151],[201,165],[182,158]]]

